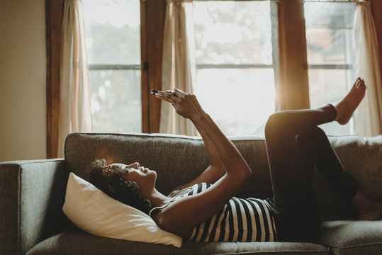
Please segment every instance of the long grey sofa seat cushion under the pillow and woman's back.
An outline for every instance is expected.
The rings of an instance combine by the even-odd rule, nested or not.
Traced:
[[[320,254],[330,255],[325,246],[308,243],[287,242],[184,242],[181,248],[163,244],[147,244],[120,239],[109,239],[86,234],[81,230],[62,232],[40,242],[28,255],[41,254]]]

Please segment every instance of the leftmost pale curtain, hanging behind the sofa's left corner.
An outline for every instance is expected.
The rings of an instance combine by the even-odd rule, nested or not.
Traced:
[[[89,73],[81,0],[67,0],[62,23],[58,157],[69,132],[91,132]]]

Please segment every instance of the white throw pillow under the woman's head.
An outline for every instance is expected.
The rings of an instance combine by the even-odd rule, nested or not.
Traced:
[[[64,214],[80,229],[101,237],[181,246],[181,237],[160,229],[144,212],[119,202],[69,174]]]

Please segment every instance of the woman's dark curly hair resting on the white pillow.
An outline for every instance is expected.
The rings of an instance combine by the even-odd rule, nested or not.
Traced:
[[[126,181],[124,174],[119,166],[108,165],[105,159],[96,159],[91,163],[89,181],[111,198],[148,214],[152,209],[150,200],[142,198],[137,193],[138,184]]]

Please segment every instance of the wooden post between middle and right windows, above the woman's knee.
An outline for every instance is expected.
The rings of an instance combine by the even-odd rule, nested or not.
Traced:
[[[279,2],[280,110],[309,108],[305,18],[300,0]]]

